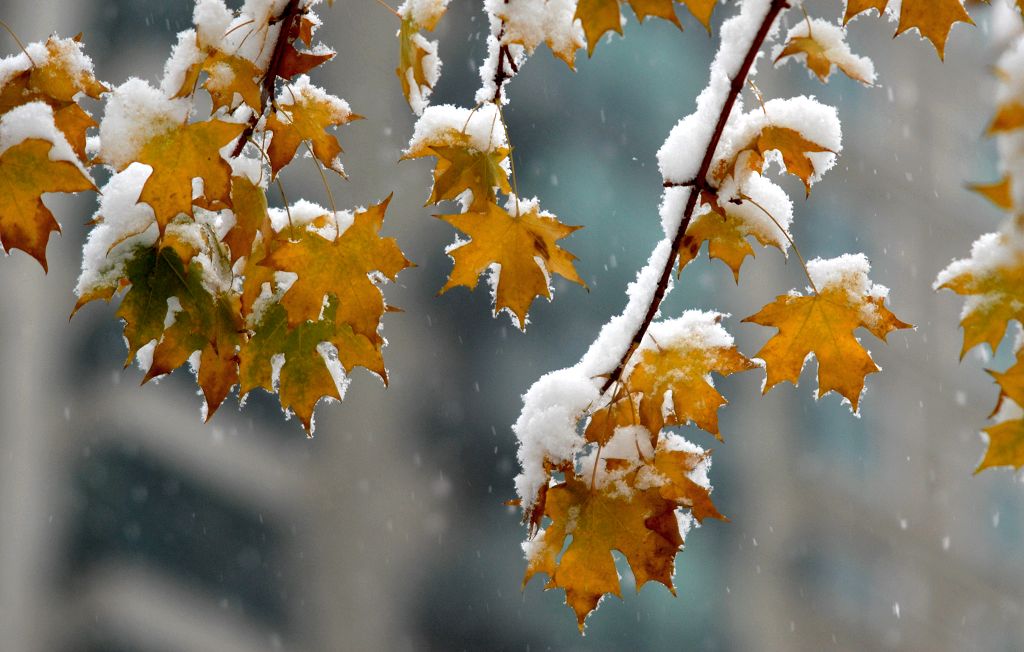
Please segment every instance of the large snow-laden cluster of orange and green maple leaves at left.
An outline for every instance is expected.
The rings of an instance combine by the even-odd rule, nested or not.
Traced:
[[[56,223],[39,195],[95,189],[86,168],[104,166],[75,310],[120,295],[126,364],[137,356],[144,381],[190,362],[207,419],[232,388],[240,398],[262,388],[310,434],[315,404],[340,399],[355,366],[386,383],[380,286],[410,266],[380,233],[388,200],[338,211],[325,179],[331,209],[268,208],[269,182],[300,151],[344,175],[330,130],[359,118],[305,76],[334,56],[313,44],[313,4],[249,3],[243,13],[199,3],[159,90],[108,87],[77,40],[55,38],[4,59],[25,70],[0,90],[5,133],[45,133],[16,120],[20,106],[51,112],[51,140],[66,138],[25,138],[0,159],[15,190],[2,209],[5,247],[45,266]],[[106,102],[92,158],[86,131],[97,123],[76,103],[83,96]]]

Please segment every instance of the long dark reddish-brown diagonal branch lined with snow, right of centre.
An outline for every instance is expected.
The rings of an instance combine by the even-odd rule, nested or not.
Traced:
[[[629,363],[634,351],[637,350],[637,347],[640,346],[640,343],[643,341],[644,336],[647,334],[647,330],[654,320],[654,315],[657,314],[662,301],[665,299],[665,294],[669,289],[669,279],[672,277],[672,270],[676,266],[676,259],[679,256],[679,247],[682,244],[683,236],[686,234],[687,227],[690,225],[690,220],[693,217],[693,211],[696,209],[697,198],[700,195],[698,190],[708,185],[708,173],[711,171],[712,163],[715,161],[715,150],[718,148],[718,143],[722,139],[722,132],[725,131],[725,125],[732,113],[732,107],[736,103],[736,98],[739,96],[739,92],[746,84],[746,77],[750,75],[751,68],[757,59],[758,52],[761,51],[761,46],[764,45],[765,39],[768,38],[768,32],[771,31],[771,26],[775,23],[775,18],[778,17],[778,14],[781,13],[783,9],[787,9],[790,3],[787,0],[772,0],[768,13],[765,15],[764,21],[758,29],[757,35],[755,35],[754,41],[751,43],[751,47],[746,51],[746,55],[743,57],[743,62],[739,68],[739,72],[729,84],[729,94],[726,96],[725,102],[722,104],[722,111],[718,116],[718,123],[715,125],[715,132],[712,134],[711,140],[708,142],[708,148],[705,150],[703,159],[700,161],[700,168],[697,170],[696,176],[685,183],[673,183],[670,181],[665,182],[666,187],[691,186],[692,189],[690,190],[689,198],[686,200],[686,208],[683,210],[683,219],[679,223],[679,228],[676,230],[675,236],[672,238],[672,253],[666,261],[665,267],[662,269],[662,275],[657,280],[657,287],[654,290],[654,296],[651,297],[650,305],[647,307],[647,313],[644,315],[643,321],[640,323],[636,333],[633,334],[633,339],[630,341],[630,346],[626,350],[626,353],[618,361],[614,371],[612,371],[608,378],[605,379],[604,385],[601,386],[602,394],[608,391],[608,388],[614,385],[622,378],[623,372],[626,370],[626,365]]]

